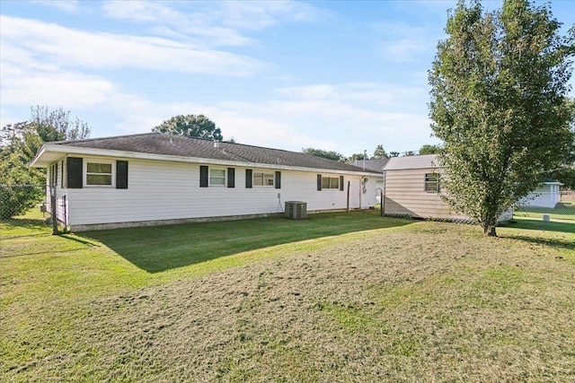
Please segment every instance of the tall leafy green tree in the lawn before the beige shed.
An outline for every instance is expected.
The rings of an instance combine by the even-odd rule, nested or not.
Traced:
[[[561,167],[573,145],[566,99],[575,32],[550,5],[505,0],[485,12],[459,1],[429,71],[432,129],[445,199],[496,235],[500,214]]]

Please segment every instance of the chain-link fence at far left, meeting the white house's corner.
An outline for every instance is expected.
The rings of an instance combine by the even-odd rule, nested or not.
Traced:
[[[0,236],[14,238],[65,231],[66,197],[55,193],[56,189],[46,185],[0,185]]]

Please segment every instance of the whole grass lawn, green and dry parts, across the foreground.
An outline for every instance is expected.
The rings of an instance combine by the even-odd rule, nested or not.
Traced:
[[[2,242],[0,380],[573,381],[572,229],[378,212],[30,229]]]

